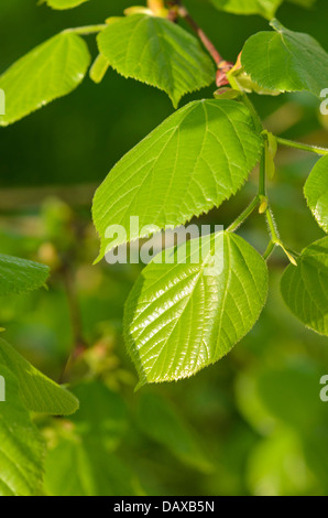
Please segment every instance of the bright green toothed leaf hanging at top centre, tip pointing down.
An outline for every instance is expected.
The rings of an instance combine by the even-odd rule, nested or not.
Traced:
[[[111,19],[98,45],[119,74],[166,91],[175,107],[185,94],[215,80],[215,67],[196,37],[164,18]]]

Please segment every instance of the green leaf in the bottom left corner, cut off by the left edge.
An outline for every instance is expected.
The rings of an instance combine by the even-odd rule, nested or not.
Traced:
[[[40,492],[44,444],[23,407],[15,377],[2,365],[6,401],[0,402],[0,496],[32,496]]]

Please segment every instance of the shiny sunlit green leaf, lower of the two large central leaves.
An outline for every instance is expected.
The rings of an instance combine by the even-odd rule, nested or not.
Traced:
[[[242,238],[218,233],[186,249],[186,263],[178,259],[182,246],[165,263],[167,250],[163,263],[151,262],[127,301],[124,334],[139,387],[186,378],[222,358],[266,300],[266,265]]]

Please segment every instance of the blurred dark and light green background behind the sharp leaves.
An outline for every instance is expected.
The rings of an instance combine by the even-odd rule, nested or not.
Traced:
[[[1,0],[0,73],[62,29],[102,22],[129,4],[92,0],[57,12],[34,0]],[[220,13],[206,0],[186,4],[227,60],[234,61],[245,39],[267,28],[259,17]],[[310,11],[286,4],[278,18],[328,50],[327,0]],[[94,36],[88,42],[96,57]],[[328,119],[317,99],[286,95],[254,102],[276,134],[327,145]],[[3,337],[56,380],[74,345],[81,349],[70,373],[79,412],[72,420],[37,418],[50,447],[44,490],[327,495],[328,403],[319,399],[319,380],[328,374],[328,343],[284,306],[278,283],[286,258],[280,252],[270,260],[262,317],[228,357],[188,380],[133,391],[136,375],[122,341],[122,313],[140,267],[91,266],[99,244],[90,205],[116,161],[172,111],[163,93],[109,71],[100,85],[86,78],[70,96],[1,129],[1,252],[53,270],[48,291],[6,299]],[[270,184],[283,239],[298,251],[322,235],[302,193],[315,160],[281,150]],[[255,191],[256,174],[204,219],[229,224]],[[252,217],[241,234],[265,249],[263,217]]]

